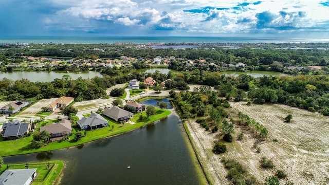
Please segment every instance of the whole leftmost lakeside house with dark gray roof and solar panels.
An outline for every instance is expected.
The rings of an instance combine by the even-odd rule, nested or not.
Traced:
[[[16,139],[17,137],[22,138],[32,131],[32,123],[23,123],[19,120],[14,120],[4,123],[2,129],[3,132],[1,135],[5,140]]]

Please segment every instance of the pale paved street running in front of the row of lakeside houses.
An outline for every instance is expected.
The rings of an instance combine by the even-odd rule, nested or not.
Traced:
[[[127,91],[127,95],[130,96],[130,93],[129,93],[129,89],[125,89]],[[129,96],[126,96],[126,98],[124,100],[136,100],[138,98],[141,98],[141,97],[148,97],[148,96],[168,96],[169,95],[169,91],[168,90],[162,90],[161,91],[161,94],[156,94],[154,92],[154,90],[148,90],[147,92],[145,92],[145,94],[141,94],[141,95],[136,95],[136,96],[133,96],[133,97],[129,97]],[[110,98],[109,99],[109,104],[112,104],[112,101],[114,99],[113,98]],[[125,103],[125,101],[122,101],[123,103]],[[87,114],[87,113],[90,113],[91,111],[93,112],[96,112],[98,110],[99,107],[95,107],[95,108],[90,108],[90,109],[87,109],[87,110],[81,110],[77,113],[77,115],[83,115],[83,114]],[[101,107],[101,108],[104,108],[104,107]],[[0,117],[0,123],[5,123],[5,122],[8,122],[8,119],[6,118],[8,115],[4,115],[2,117]],[[52,119],[58,119],[58,118],[65,118],[64,115],[49,115],[49,116],[46,116],[45,119],[46,120],[52,120]],[[38,116],[35,116],[35,117],[24,117],[24,118],[10,118],[10,119],[13,119],[13,120],[19,120],[19,121],[22,121],[22,120],[36,120],[36,119],[40,119],[40,117]]]

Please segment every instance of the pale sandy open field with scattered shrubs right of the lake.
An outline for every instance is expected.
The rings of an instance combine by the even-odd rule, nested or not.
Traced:
[[[227,143],[228,151],[223,155],[211,152],[214,141],[221,134],[212,134],[194,121],[188,122],[197,154],[213,184],[229,184],[227,171],[220,162],[222,157],[233,158],[242,163],[260,183],[267,176],[275,175],[277,170],[287,174],[285,180],[295,184],[329,183],[329,132],[328,118],[318,113],[289,107],[285,105],[245,105],[245,102],[230,102],[231,114],[241,111],[264,124],[269,133],[266,141],[260,142],[261,152],[257,153],[253,143],[259,141],[255,134],[245,131],[242,141],[236,140],[244,126],[234,125],[233,143]],[[291,123],[284,118],[292,114]],[[273,142],[278,139],[279,142]],[[263,170],[260,159],[265,156],[272,160],[275,168]]]

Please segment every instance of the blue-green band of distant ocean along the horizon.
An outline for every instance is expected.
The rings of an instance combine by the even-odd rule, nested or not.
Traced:
[[[329,43],[329,38],[245,38],[207,36],[0,36],[0,43]]]

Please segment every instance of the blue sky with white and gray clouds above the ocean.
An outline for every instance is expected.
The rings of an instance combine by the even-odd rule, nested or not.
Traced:
[[[328,0],[6,0],[1,36],[329,38]]]

